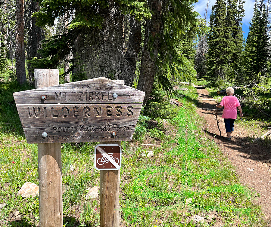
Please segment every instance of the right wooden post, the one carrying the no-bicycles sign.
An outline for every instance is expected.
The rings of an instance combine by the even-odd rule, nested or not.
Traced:
[[[100,170],[100,219],[101,227],[120,226],[120,170]]]

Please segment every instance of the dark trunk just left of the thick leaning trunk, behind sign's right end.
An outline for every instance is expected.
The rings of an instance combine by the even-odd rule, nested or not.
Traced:
[[[142,35],[141,35],[140,23],[134,17],[131,17],[128,48],[124,55],[125,59],[129,63],[133,71],[132,78],[125,79],[125,84],[129,87],[132,86],[132,83],[136,76],[136,60],[140,51],[141,39],[142,39]]]

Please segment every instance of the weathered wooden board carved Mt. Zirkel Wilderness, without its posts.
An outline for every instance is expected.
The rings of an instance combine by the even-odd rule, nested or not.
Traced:
[[[132,140],[145,92],[95,78],[13,93],[27,143]]]

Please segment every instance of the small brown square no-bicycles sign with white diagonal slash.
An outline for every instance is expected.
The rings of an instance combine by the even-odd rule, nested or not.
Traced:
[[[98,144],[94,150],[96,170],[119,170],[121,167],[121,146],[118,144]]]

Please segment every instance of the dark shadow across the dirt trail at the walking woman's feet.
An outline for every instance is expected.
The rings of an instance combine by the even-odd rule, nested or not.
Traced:
[[[243,143],[252,141],[254,138],[251,137],[240,138],[236,135],[233,135],[232,140],[228,141],[226,139],[227,137],[216,135],[215,133],[211,133],[205,129],[203,131],[210,135],[211,137],[214,137],[215,140],[220,140],[222,143],[224,143],[225,147],[243,153],[243,155],[240,154],[240,156],[243,158],[251,159],[254,161],[271,163],[270,139],[265,139],[264,141],[259,140],[254,143],[248,143],[243,145]]]

